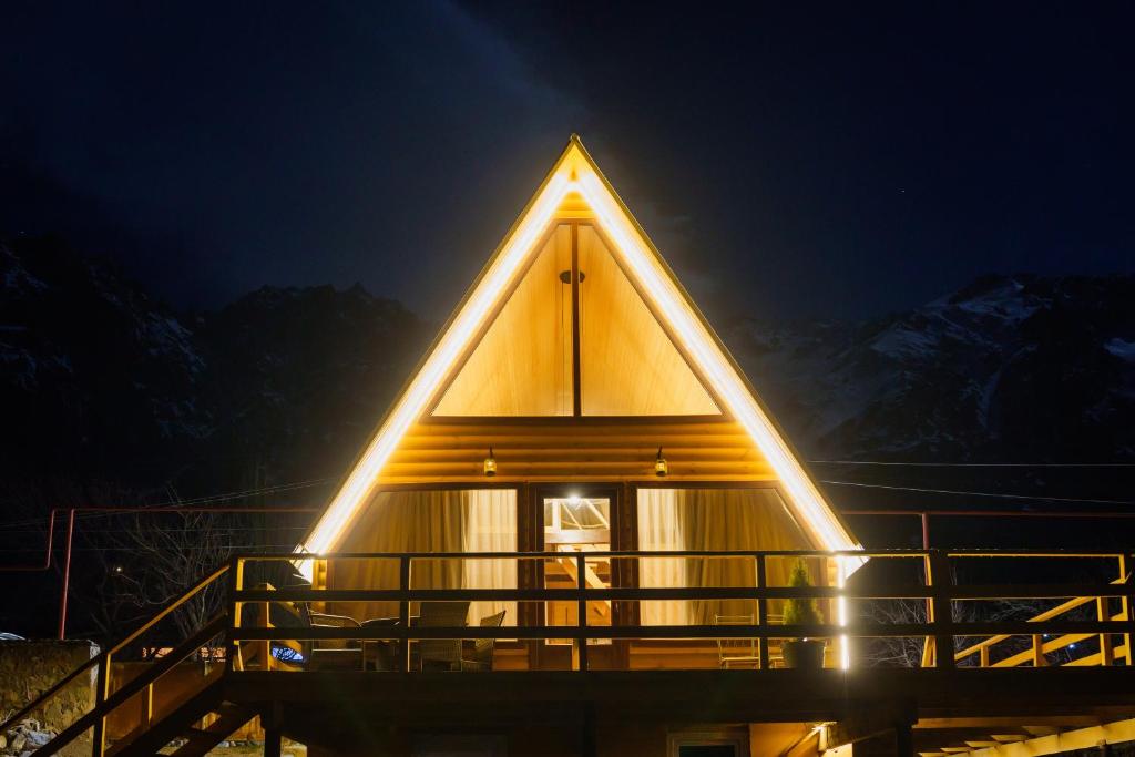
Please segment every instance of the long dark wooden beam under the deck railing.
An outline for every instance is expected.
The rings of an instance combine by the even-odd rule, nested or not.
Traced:
[[[1125,668],[591,671],[373,673],[317,671],[234,673],[226,697],[241,704],[283,701],[373,707],[395,724],[443,716],[523,716],[524,706],[594,703],[611,718],[655,722],[835,722],[849,707],[907,712],[925,726],[1012,732],[1008,723],[1082,723],[1135,715],[1135,688]],[[707,691],[713,697],[706,697]],[[474,712],[476,710],[476,712]],[[377,715],[376,715],[377,716]],[[933,720],[930,720],[933,718]],[[981,720],[978,720],[981,718]],[[1004,718],[1001,721],[1000,718]]]

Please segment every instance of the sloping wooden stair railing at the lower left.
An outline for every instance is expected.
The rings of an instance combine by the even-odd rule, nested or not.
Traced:
[[[143,723],[142,730],[150,725],[153,718],[153,688],[162,675],[173,670],[178,663],[190,658],[200,649],[208,646],[213,639],[222,634],[229,625],[228,619],[224,614],[213,617],[203,628],[176,645],[170,651],[152,661],[150,667],[131,681],[127,681],[118,689],[111,691],[111,664],[116,655],[123,654],[128,647],[134,645],[146,632],[151,631],[162,620],[175,613],[185,603],[190,602],[210,587],[220,586],[218,582],[229,571],[228,565],[222,565],[210,575],[190,588],[180,597],[163,607],[157,615],[146,621],[133,633],[114,645],[106,651],[92,657],[89,662],[79,665],[74,671],[59,680],[54,685],[22,707],[3,724],[0,724],[0,733],[18,723],[27,715],[44,707],[51,699],[59,696],[68,685],[77,682],[82,676],[93,676],[94,705],[79,716],[74,723],[62,729],[58,735],[35,750],[34,755],[53,755],[68,743],[75,741],[87,731],[92,731],[91,754],[94,757],[102,757],[107,748],[106,726],[107,718],[118,707],[141,695],[143,697]]]

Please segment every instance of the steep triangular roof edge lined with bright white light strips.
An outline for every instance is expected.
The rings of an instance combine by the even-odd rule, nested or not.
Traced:
[[[457,305],[402,394],[387,412],[301,549],[320,554],[334,548],[352,516],[381,481],[381,472],[406,431],[429,414],[452,387],[484,339],[502,301],[540,255],[545,235],[565,204],[582,203],[602,232],[607,249],[650,311],[664,321],[670,338],[713,402],[751,437],[775,471],[785,501],[817,544],[827,549],[857,546],[824,499],[768,411],[732,356],[682,288],[646,232],[631,216],[577,135],[553,166],[501,246]]]

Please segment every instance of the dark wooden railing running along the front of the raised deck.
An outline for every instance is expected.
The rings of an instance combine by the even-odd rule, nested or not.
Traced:
[[[575,580],[574,588],[461,588],[423,589],[413,588],[414,564],[424,561],[497,560],[516,561],[518,573],[522,564],[539,561],[562,561],[569,557],[575,562],[575,575],[587,574],[588,563],[596,560],[640,562],[651,558],[712,560],[733,558],[753,562],[749,586],[703,586],[674,588],[642,587],[595,587]],[[1083,558],[1090,561],[1113,561],[1117,580],[1111,582],[1060,582],[1060,583],[969,583],[956,584],[953,575],[959,564],[984,558],[1011,558],[1018,566],[1040,564],[1042,561]],[[846,586],[785,587],[768,586],[770,561],[809,560],[833,563],[844,572],[864,562],[905,560],[919,566],[918,580],[902,583],[881,582],[872,584],[860,577],[851,577]],[[245,565],[252,561],[291,561],[302,564],[306,561],[396,561],[397,584],[389,588],[247,588],[241,580]],[[882,552],[609,552],[609,553],[409,553],[409,554],[343,554],[320,555],[257,555],[237,557],[235,561],[235,591],[230,597],[233,625],[229,644],[233,649],[250,641],[268,645],[295,644],[296,641],[386,641],[397,645],[398,670],[410,670],[411,646],[424,639],[507,639],[520,641],[564,640],[573,644],[573,670],[587,671],[589,647],[596,642],[611,640],[662,641],[662,640],[716,640],[755,639],[758,642],[758,667],[768,668],[770,650],[775,641],[797,638],[830,639],[835,645],[848,640],[885,639],[896,637],[920,638],[926,654],[923,665],[939,670],[964,666],[1011,666],[1032,661],[1044,665],[1044,655],[1065,649],[1076,639],[1100,639],[1101,651],[1095,655],[1095,664],[1112,665],[1118,662],[1132,665],[1132,634],[1135,633],[1133,615],[1133,580],[1128,565],[1130,556],[1116,553],[995,553],[995,552],[942,552],[942,550],[882,550]],[[869,573],[869,569],[863,569]],[[834,572],[839,572],[838,570]],[[867,578],[864,575],[863,578]],[[790,599],[814,598],[827,600],[833,607],[842,606],[844,617],[833,622],[812,625],[770,624],[770,604]],[[1026,600],[1068,599],[1050,611],[1034,617],[1010,621],[958,621],[955,608],[959,603],[985,602],[1001,598]],[[755,607],[751,624],[689,624],[689,625],[644,625],[622,622],[614,625],[588,624],[588,603],[640,603],[646,600],[666,602],[712,602],[749,600]],[[875,600],[906,600],[926,608],[924,620],[916,622],[876,622],[856,617],[855,607]],[[381,628],[268,628],[268,624],[252,626],[241,623],[239,608],[250,603],[285,603],[289,606],[311,603],[396,603],[397,623]],[[528,623],[503,628],[452,626],[422,628],[410,623],[411,607],[430,602],[518,602],[518,603],[574,603],[575,622],[571,625],[547,625]],[[1095,603],[1100,609],[1094,620],[1068,620],[1067,613],[1077,607]],[[1116,603],[1118,612],[1108,609]],[[831,613],[830,613],[831,614]],[[393,619],[392,619],[393,620]],[[842,624],[838,621],[844,621]],[[960,651],[955,649],[974,638],[987,637],[978,644],[970,644]],[[1014,655],[991,663],[991,649],[1004,645],[1010,639],[1022,637],[1036,640],[1037,647],[1026,656]],[[1045,638],[1054,637],[1048,641]],[[936,654],[936,650],[949,654]],[[840,655],[842,656],[842,655]],[[976,665],[970,665],[970,662]],[[854,662],[852,662],[854,664]],[[1076,661],[1074,664],[1093,664]]]

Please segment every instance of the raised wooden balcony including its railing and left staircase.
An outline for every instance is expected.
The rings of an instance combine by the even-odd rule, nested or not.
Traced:
[[[92,709],[37,754],[86,739],[95,757],[129,757],[177,738],[193,746],[185,754],[204,754],[258,716],[277,751],[281,734],[306,743],[329,731],[355,748],[373,737],[373,722],[507,732],[544,724],[608,740],[624,723],[796,723],[823,726],[830,743],[897,729],[939,754],[958,733],[1003,735],[1014,722],[1130,717],[1130,560],[989,550],[247,555],[10,721],[94,680]],[[465,570],[471,563],[497,570]],[[376,580],[318,588],[328,571],[351,574],[343,565]],[[805,566],[797,578],[813,583],[788,586],[788,566]],[[297,570],[317,588],[291,584]],[[481,588],[477,575],[511,577],[510,586]],[[667,575],[698,584],[656,586]],[[473,586],[422,586],[448,580]],[[173,646],[144,641],[209,592],[222,600],[212,621]],[[800,616],[790,604],[807,600],[821,622],[785,622]],[[822,640],[824,654],[815,667],[790,667],[788,645],[805,638]],[[138,649],[150,650],[145,664],[129,662]],[[199,680],[184,675],[190,659],[203,664]]]

